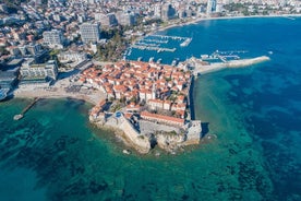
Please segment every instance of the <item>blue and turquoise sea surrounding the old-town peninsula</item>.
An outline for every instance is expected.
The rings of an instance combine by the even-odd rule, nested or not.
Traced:
[[[301,200],[301,19],[206,21],[162,34],[192,36],[173,58],[219,50],[270,55],[195,82],[195,115],[216,140],[178,155],[123,155],[112,134],[88,123],[89,105],[0,104],[0,200]],[[99,138],[98,138],[99,137]]]

